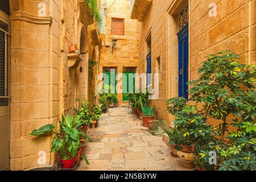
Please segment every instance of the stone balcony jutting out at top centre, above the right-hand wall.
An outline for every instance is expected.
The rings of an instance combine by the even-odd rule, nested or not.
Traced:
[[[131,1],[131,19],[137,19],[143,22],[148,7],[152,4],[153,0],[132,0]]]

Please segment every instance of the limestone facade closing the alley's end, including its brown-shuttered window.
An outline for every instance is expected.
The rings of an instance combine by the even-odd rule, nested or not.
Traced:
[[[101,31],[102,49],[100,51],[100,64],[98,65],[100,73],[98,85],[102,83],[102,73],[109,76],[110,69],[112,69],[116,75],[119,74],[115,86],[121,90],[118,93],[118,104],[121,105],[123,102],[127,102],[125,94],[129,92],[129,86],[123,84],[123,77],[127,77],[129,72],[138,72],[138,21],[131,19],[130,0],[101,1],[101,9],[105,9],[105,17],[103,16],[103,26],[105,25],[105,27],[102,27]],[[117,39],[117,43],[113,47],[114,39]],[[104,80],[103,83],[108,84]],[[112,85],[114,86],[113,82]],[[133,87],[135,88],[135,81]]]

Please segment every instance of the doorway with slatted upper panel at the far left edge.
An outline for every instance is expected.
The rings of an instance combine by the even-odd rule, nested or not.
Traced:
[[[10,3],[0,1],[0,171],[10,167]]]

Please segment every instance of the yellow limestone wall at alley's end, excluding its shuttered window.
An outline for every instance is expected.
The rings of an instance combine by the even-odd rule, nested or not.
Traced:
[[[107,0],[108,7],[112,5],[114,0]],[[102,67],[118,67],[117,72],[122,73],[123,67],[137,67],[139,62],[139,37],[138,22],[131,19],[130,1],[116,1],[108,10],[106,18],[106,31],[101,34],[102,44],[112,44],[112,39],[117,38],[117,45],[112,53],[111,46],[102,46],[100,51],[99,73],[102,73]],[[111,34],[111,18],[125,18],[125,35]],[[105,43],[107,42],[107,43]],[[101,82],[102,78],[99,79]],[[122,83],[122,79],[119,80]],[[122,89],[122,87],[121,87]],[[122,93],[118,94],[118,103],[122,104]]]

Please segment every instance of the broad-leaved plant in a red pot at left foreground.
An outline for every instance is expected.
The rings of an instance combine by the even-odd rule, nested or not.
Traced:
[[[62,116],[62,120],[59,121],[60,130],[53,131],[55,127],[53,125],[45,125],[37,130],[33,130],[31,135],[40,136],[46,132],[55,134],[51,143],[51,152],[59,152],[61,155],[60,163],[61,168],[71,169],[75,166],[77,151],[79,151],[81,134],[84,138],[88,138],[79,128],[82,125],[81,117],[69,117],[69,115]],[[82,159],[89,164],[84,155]]]

